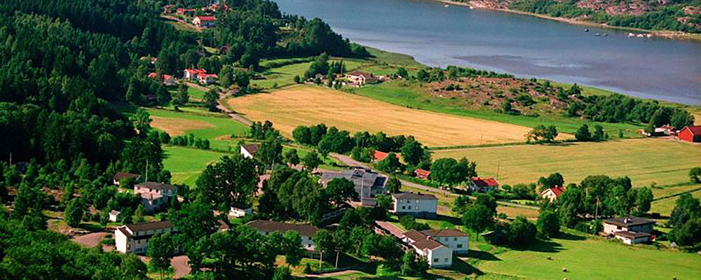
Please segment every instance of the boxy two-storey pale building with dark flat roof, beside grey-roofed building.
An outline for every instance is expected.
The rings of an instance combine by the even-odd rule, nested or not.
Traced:
[[[411,215],[422,218],[435,218],[438,199],[434,195],[422,193],[393,193],[393,206],[390,212],[397,215]]]

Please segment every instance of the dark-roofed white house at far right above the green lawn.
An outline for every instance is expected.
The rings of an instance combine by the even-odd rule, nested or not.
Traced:
[[[655,221],[626,216],[604,220],[604,233],[620,239],[625,244],[651,241]]]

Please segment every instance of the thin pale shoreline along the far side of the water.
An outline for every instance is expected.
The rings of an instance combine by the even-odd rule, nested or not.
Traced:
[[[619,27],[619,26],[612,26],[612,25],[607,25],[606,23],[597,23],[597,22],[587,22],[584,20],[574,20],[571,18],[560,18],[560,17],[551,17],[550,15],[540,15],[537,13],[529,13],[529,12],[524,12],[521,10],[512,10],[509,8],[491,8],[488,6],[484,5],[478,5],[470,2],[456,2],[456,1],[451,1],[451,0],[431,0],[431,1],[437,1],[440,3],[445,3],[445,4],[450,4],[450,5],[457,5],[457,6],[465,6],[465,7],[470,7],[470,8],[478,8],[481,10],[492,10],[492,11],[497,11],[497,12],[502,12],[502,13],[512,13],[516,15],[529,15],[531,17],[535,18],[542,18],[544,20],[553,20],[556,22],[563,22],[569,25],[580,25],[580,26],[585,26],[585,27],[599,27],[599,28],[606,28],[606,29],[618,29],[618,30],[624,30],[624,31],[637,31],[637,32],[644,32],[646,34],[652,34],[653,37],[659,37],[659,38],[667,38],[667,39],[672,39],[672,40],[681,40],[681,41],[695,41],[695,42],[701,42],[701,34],[690,34],[690,33],[684,33],[681,31],[669,31],[669,30],[650,30],[650,29],[640,29],[640,28],[635,28],[635,27]]]

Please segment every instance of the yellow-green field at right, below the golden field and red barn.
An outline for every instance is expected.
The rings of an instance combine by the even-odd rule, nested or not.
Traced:
[[[688,181],[699,165],[698,146],[669,139],[626,139],[557,146],[520,145],[435,151],[434,158],[463,158],[477,162],[479,176],[496,176],[501,183],[535,182],[559,172],[566,183],[586,176],[629,176],[634,186],[669,186]],[[655,189],[656,190],[656,189]]]

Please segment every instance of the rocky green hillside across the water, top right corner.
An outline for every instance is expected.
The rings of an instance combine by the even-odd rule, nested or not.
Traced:
[[[617,0],[458,0],[478,8],[525,13],[660,31],[701,33],[701,1]]]

